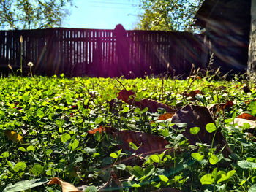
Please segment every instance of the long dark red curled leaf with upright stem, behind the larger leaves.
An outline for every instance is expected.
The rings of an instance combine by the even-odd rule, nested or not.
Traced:
[[[132,96],[132,99],[131,99]],[[141,110],[148,107],[149,112],[157,112],[158,108],[165,109],[166,112],[176,112],[172,107],[167,104],[162,104],[158,101],[154,101],[152,99],[141,99],[140,101],[134,101],[135,93],[132,91],[121,90],[118,93],[118,99],[126,102],[127,104],[134,104],[136,107],[139,107]]]

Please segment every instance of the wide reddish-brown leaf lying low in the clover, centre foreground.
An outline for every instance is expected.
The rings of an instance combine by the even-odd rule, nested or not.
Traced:
[[[130,142],[134,143],[137,147],[140,146],[135,153],[137,155],[142,154],[144,157],[154,153],[162,153],[166,150],[165,146],[168,144],[164,137],[137,131],[117,131],[113,136],[121,139],[122,145],[119,147],[123,150],[128,150],[132,153],[135,152],[129,147]]]

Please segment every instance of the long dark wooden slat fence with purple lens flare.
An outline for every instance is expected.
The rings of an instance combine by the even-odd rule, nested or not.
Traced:
[[[20,42],[20,36],[23,42]],[[10,64],[38,75],[64,73],[89,77],[143,77],[170,72],[188,74],[202,68],[208,51],[197,34],[167,31],[48,28],[0,31],[1,72]]]

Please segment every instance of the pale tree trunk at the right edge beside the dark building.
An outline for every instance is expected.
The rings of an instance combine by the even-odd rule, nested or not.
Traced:
[[[252,0],[251,15],[248,69],[249,72],[256,72],[256,0]]]

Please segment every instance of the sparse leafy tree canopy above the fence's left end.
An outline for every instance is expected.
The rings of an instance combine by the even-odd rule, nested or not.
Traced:
[[[61,26],[72,0],[1,0],[0,28],[31,29]]]

